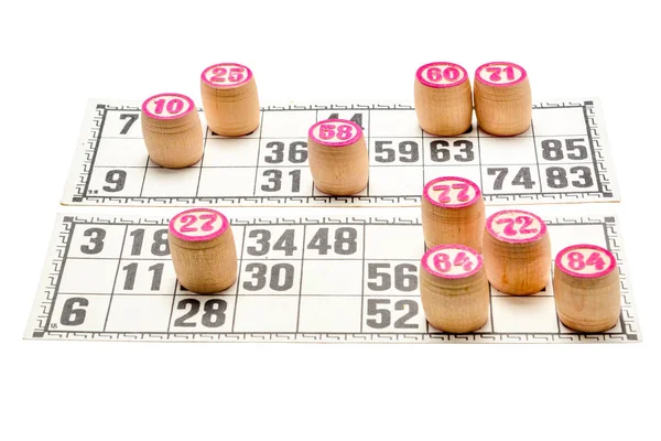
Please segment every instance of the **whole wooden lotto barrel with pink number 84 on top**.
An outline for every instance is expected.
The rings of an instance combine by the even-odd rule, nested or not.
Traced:
[[[557,316],[581,332],[603,332],[617,324],[620,280],[615,256],[596,245],[572,245],[555,257],[553,293]]]

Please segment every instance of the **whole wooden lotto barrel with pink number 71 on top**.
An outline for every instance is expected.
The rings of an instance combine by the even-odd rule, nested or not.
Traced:
[[[532,119],[532,96],[528,73],[518,64],[492,62],[475,72],[475,114],[478,126],[496,136],[528,130]]]

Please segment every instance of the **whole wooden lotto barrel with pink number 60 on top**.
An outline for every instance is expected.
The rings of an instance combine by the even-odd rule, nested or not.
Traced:
[[[464,67],[447,62],[420,66],[413,92],[418,123],[427,133],[452,137],[470,127],[473,94]]]

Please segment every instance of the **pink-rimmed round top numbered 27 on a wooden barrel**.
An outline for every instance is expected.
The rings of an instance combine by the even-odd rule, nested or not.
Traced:
[[[209,208],[186,209],[170,220],[170,233],[186,241],[209,240],[227,230],[229,222]]]

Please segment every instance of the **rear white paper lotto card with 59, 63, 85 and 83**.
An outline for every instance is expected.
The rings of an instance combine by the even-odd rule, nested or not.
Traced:
[[[424,183],[440,175],[476,182],[487,204],[619,201],[595,99],[537,104],[530,129],[507,138],[475,121],[458,137],[433,137],[404,105],[271,106],[261,110],[258,129],[240,138],[215,135],[199,115],[202,160],[170,170],[148,157],[140,104],[91,101],[63,204],[413,206]],[[362,128],[369,184],[357,195],[329,196],[313,184],[307,132],[328,118]]]

